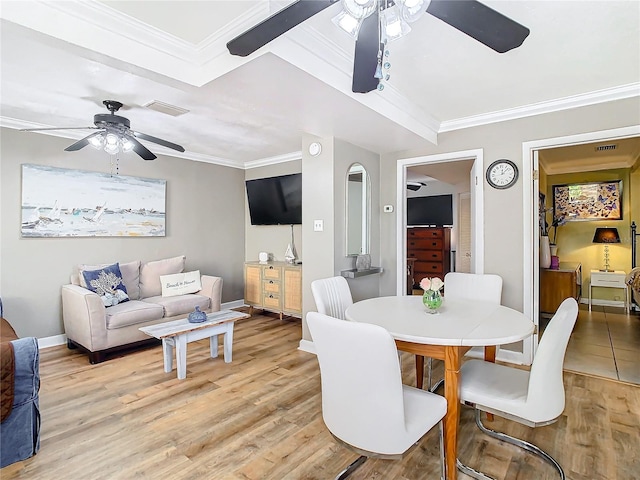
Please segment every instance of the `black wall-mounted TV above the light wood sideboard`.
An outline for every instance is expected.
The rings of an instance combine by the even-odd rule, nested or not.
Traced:
[[[251,225],[302,224],[302,174],[247,180]]]

